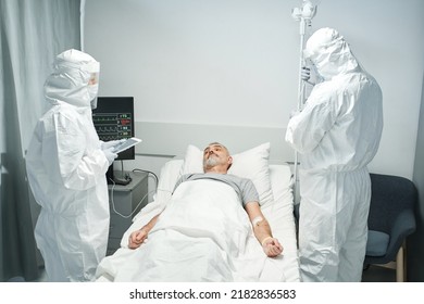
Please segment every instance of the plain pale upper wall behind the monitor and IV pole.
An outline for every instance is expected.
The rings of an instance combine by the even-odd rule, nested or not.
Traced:
[[[87,0],[85,50],[101,62],[100,96],[134,96],[137,122],[285,127],[297,104],[299,24],[290,12],[300,3]],[[412,177],[423,13],[422,0],[322,0],[312,22],[311,30],[345,35],[382,86],[373,172]]]

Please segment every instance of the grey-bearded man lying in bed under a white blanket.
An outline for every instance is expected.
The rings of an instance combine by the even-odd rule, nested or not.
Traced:
[[[232,156],[222,144],[204,149],[205,174],[183,176],[163,212],[130,233],[128,248],[137,250],[120,266],[114,281],[247,280],[238,274],[247,273],[239,269],[249,265],[242,257],[252,250],[251,231],[264,257],[283,252],[261,212],[253,183],[227,175],[230,164]]]

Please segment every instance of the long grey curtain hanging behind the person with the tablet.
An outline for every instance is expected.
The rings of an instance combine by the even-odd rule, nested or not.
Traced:
[[[47,110],[43,83],[54,56],[80,49],[79,0],[0,0],[0,281],[38,278],[25,151]],[[84,5],[84,1],[83,1]]]

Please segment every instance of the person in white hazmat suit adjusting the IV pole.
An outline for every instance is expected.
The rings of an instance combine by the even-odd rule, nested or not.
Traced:
[[[335,29],[316,30],[304,55],[322,81],[286,132],[300,154],[301,278],[361,281],[371,200],[366,165],[382,136],[382,90]]]

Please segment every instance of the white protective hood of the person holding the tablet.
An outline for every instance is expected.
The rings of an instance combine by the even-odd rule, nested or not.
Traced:
[[[90,107],[93,100],[90,81],[98,78],[100,63],[78,50],[59,54],[53,63],[53,73],[45,84],[45,96],[52,104],[64,101],[78,107]],[[97,79],[96,78],[96,79]]]

